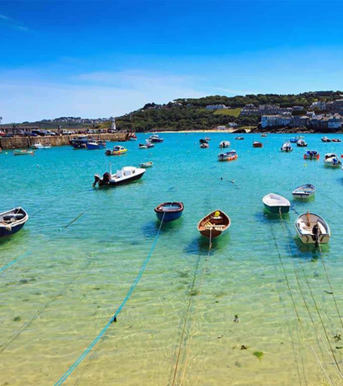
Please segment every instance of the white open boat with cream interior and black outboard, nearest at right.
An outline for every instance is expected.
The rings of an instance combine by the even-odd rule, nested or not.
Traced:
[[[314,213],[303,213],[294,223],[304,244],[325,244],[330,238],[330,228],[326,221]]]

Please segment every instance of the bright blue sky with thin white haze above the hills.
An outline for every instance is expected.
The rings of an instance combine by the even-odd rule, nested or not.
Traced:
[[[343,2],[0,1],[5,122],[343,89]]]

